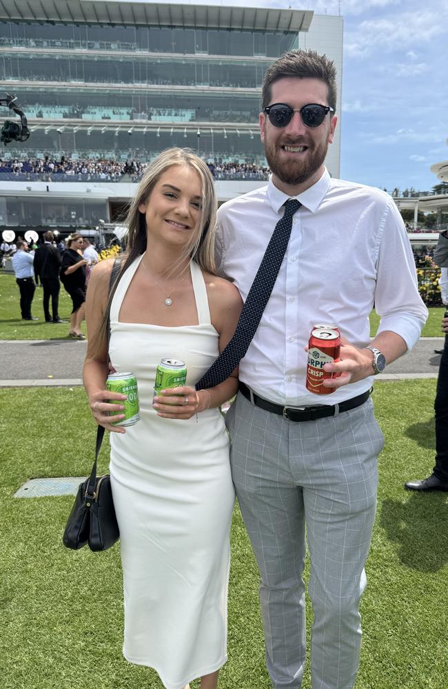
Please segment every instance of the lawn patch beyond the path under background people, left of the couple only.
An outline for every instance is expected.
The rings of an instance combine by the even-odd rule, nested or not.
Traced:
[[[36,287],[31,312],[39,320],[21,320],[20,293],[14,276],[0,274],[0,340],[60,340],[68,338],[69,323],[45,323],[42,287]],[[51,299],[50,299],[51,313]],[[59,316],[70,320],[72,300],[61,285]],[[85,322],[81,327],[87,334]]]

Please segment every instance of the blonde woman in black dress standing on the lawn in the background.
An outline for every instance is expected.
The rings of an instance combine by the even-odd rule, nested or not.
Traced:
[[[81,323],[85,315],[85,266],[88,261],[83,258],[83,238],[75,232],[67,238],[67,249],[62,256],[61,282],[65,291],[72,298],[72,314],[70,316],[71,338],[85,340],[81,332]]]

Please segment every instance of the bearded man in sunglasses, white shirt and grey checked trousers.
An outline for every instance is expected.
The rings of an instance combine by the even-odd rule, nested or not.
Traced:
[[[274,107],[275,105],[275,107]],[[394,201],[330,178],[336,72],[325,56],[294,50],[263,85],[261,138],[272,178],[218,211],[218,267],[243,299],[283,205],[296,198],[286,254],[261,324],[241,360],[227,413],[232,475],[261,570],[267,669],[275,689],[298,689],[305,666],[305,524],[311,558],[312,684],[352,689],[376,508],[383,435],[373,376],[417,342],[427,318],[414,256]],[[378,333],[369,339],[375,303]],[[343,336],[331,395],[305,387],[314,323]],[[367,349],[372,347],[372,349]]]

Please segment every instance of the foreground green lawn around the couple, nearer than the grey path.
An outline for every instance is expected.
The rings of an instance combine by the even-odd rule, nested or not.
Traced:
[[[434,380],[377,382],[386,437],[378,514],[362,601],[356,689],[447,689],[448,495],[418,495],[405,480],[434,463]],[[68,551],[72,497],[13,498],[30,477],[85,475],[95,427],[80,388],[0,389],[3,689],[162,689],[121,656],[119,547]],[[101,470],[107,466],[107,443]],[[232,530],[229,661],[222,689],[269,689],[257,572],[238,508]],[[308,628],[312,620],[308,607]],[[197,689],[198,683],[192,685]],[[309,665],[303,689],[310,688]]]

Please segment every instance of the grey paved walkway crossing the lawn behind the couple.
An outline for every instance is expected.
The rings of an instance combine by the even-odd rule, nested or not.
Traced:
[[[436,378],[444,338],[421,338],[416,347],[387,367],[377,380]],[[3,340],[0,344],[3,375],[0,387],[82,385],[85,340]]]

